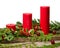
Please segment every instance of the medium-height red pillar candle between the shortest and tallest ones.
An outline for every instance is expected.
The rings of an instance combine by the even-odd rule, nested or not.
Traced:
[[[32,29],[32,13],[23,13],[23,28]]]

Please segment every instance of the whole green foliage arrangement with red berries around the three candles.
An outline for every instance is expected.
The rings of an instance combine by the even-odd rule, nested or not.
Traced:
[[[40,29],[40,20],[32,20],[32,29],[31,30],[27,30],[26,32],[24,32],[23,26],[21,22],[16,22],[16,31],[14,31],[13,29],[9,29],[9,28],[0,28],[0,43],[8,43],[8,42],[12,42],[15,39],[22,39],[24,41],[28,40],[29,42],[36,42],[36,41],[51,41],[51,44],[55,44],[54,39],[52,39],[52,37],[55,34],[58,34],[60,31],[60,22],[53,22],[51,21],[50,23],[50,33],[48,35],[44,35],[44,33],[41,31]],[[19,39],[19,40],[20,40]],[[26,39],[26,40],[25,40]],[[1,44],[0,44],[1,46]],[[19,45],[21,47],[21,45]],[[51,45],[50,45],[51,46]],[[55,46],[55,45],[54,45]],[[43,46],[42,48],[47,47],[47,46]],[[27,48],[27,45],[26,45]],[[37,47],[39,48],[39,47]],[[40,47],[41,48],[41,47]]]

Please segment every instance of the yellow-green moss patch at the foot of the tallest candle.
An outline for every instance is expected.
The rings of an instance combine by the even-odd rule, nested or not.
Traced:
[[[40,31],[40,36],[32,36],[30,37],[30,41],[34,42],[34,41],[50,41],[53,37],[53,34],[48,34],[48,35],[44,35],[44,33],[42,31]]]

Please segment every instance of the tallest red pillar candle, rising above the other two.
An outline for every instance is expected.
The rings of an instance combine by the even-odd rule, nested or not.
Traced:
[[[49,6],[40,7],[40,28],[44,34],[49,33]]]

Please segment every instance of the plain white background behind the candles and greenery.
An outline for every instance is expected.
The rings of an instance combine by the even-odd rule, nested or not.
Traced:
[[[0,27],[22,22],[22,14],[29,12],[40,17],[40,6],[50,6],[50,20],[60,21],[60,0],[0,0]]]

